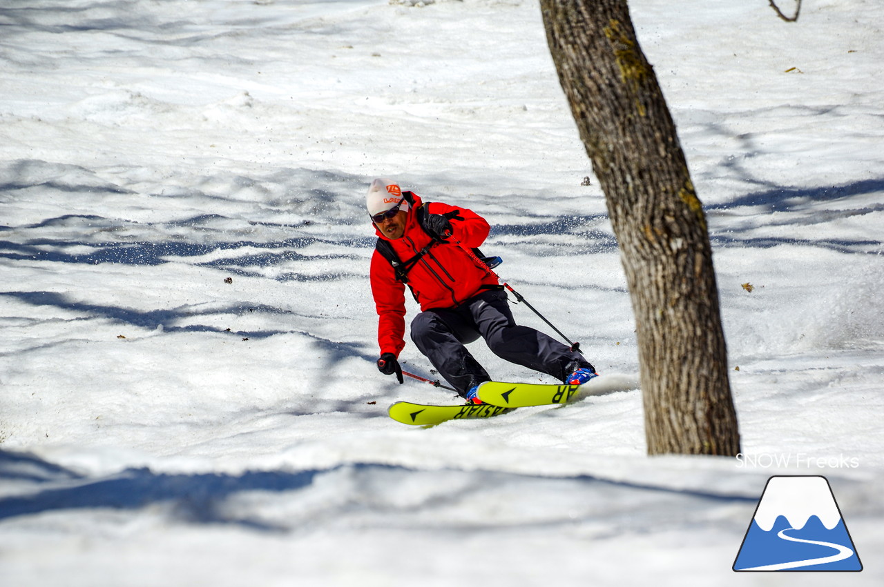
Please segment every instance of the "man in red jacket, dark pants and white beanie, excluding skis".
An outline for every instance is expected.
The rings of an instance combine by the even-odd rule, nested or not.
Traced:
[[[403,381],[398,357],[405,346],[408,284],[421,306],[411,322],[411,340],[468,403],[481,403],[476,388],[492,380],[464,346],[479,336],[498,357],[565,383],[578,385],[596,376],[576,350],[515,323],[497,275],[468,252],[488,237],[482,216],[441,202],[424,204],[386,179],[371,183],[366,207],[378,237],[370,281],[381,373],[395,373]]]

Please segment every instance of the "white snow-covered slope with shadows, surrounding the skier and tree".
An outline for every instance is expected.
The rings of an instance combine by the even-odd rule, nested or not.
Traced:
[[[537,2],[4,0],[0,583],[829,584],[730,570],[766,479],[811,474],[865,565],[838,583],[881,584],[884,4],[630,4],[708,214],[737,459],[645,455]],[[453,397],[373,364],[373,177],[484,214],[600,395],[387,418]]]

